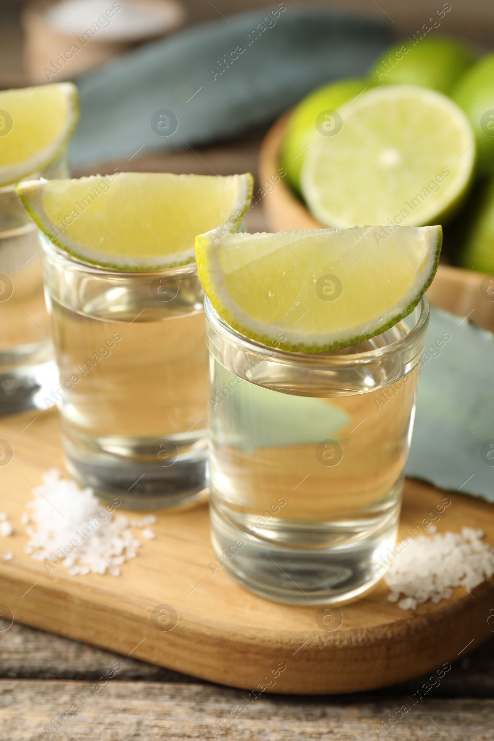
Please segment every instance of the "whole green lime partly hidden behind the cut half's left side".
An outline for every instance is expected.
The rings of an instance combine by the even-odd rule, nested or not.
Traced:
[[[332,113],[348,100],[367,90],[369,83],[363,79],[343,79],[313,90],[294,108],[281,148],[281,165],[287,171],[290,185],[300,192],[300,175],[305,153],[317,125],[334,124]],[[321,119],[321,121],[319,120]]]

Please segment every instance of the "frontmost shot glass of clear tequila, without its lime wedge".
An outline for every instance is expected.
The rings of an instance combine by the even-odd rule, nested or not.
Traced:
[[[361,596],[395,544],[427,299],[383,334],[327,353],[254,342],[207,299],[205,316],[218,568],[289,605]]]

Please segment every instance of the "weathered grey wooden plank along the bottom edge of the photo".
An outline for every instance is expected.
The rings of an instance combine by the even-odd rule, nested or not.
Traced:
[[[410,710],[384,738],[494,738],[494,700],[431,696],[413,705],[406,695],[310,700],[264,695],[249,704],[241,691],[114,679],[96,686],[70,680],[4,679],[0,693],[0,739],[5,741],[46,741],[57,728],[52,736],[57,741],[362,741],[376,738],[390,714],[402,707]]]

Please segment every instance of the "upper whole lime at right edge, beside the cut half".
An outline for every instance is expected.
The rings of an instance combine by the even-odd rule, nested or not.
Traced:
[[[479,59],[458,80],[453,99],[470,119],[477,140],[477,169],[494,167],[494,53]]]

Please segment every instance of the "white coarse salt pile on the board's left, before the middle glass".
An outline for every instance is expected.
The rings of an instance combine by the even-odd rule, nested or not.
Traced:
[[[76,482],[60,478],[52,469],[42,476],[43,485],[33,490],[33,514],[27,528],[30,539],[24,551],[33,559],[59,563],[70,575],[119,576],[117,566],[136,556],[141,543],[123,515],[113,516],[96,498],[93,489],[79,489]]]

